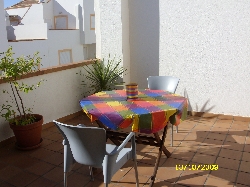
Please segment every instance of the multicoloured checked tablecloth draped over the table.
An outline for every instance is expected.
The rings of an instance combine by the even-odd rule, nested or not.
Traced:
[[[99,120],[113,130],[132,125],[132,131],[148,134],[163,129],[168,120],[179,125],[187,116],[187,99],[163,90],[139,90],[133,100],[127,99],[125,90],[99,92],[80,105],[91,121]]]

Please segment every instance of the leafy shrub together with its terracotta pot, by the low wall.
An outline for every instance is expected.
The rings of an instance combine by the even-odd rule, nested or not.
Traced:
[[[42,142],[41,132],[43,116],[32,114],[31,108],[24,106],[23,95],[21,92],[29,93],[40,86],[41,81],[35,85],[27,85],[20,79],[32,72],[38,71],[41,58],[38,52],[33,56],[20,56],[13,58],[12,47],[0,53],[0,71],[1,78],[9,83],[10,90],[3,90],[3,93],[9,94],[10,100],[1,106],[1,117],[9,122],[10,128],[16,137],[16,147],[23,150],[29,150],[39,147]]]

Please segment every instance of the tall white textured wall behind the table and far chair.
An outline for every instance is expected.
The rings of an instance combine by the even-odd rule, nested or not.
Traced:
[[[122,54],[123,4],[95,5],[97,54]],[[190,110],[250,116],[249,1],[137,0],[128,6],[131,81],[146,88],[150,75],[176,76]]]

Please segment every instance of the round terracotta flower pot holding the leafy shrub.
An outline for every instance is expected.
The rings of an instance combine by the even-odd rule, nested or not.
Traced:
[[[10,124],[16,137],[16,147],[21,150],[31,150],[41,146],[42,143],[42,125],[43,116],[39,114],[32,114],[36,118],[36,122],[25,125],[17,126]]]

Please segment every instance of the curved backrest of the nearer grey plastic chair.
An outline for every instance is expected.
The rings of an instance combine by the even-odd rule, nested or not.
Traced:
[[[106,154],[106,131],[97,127],[66,125],[54,121],[70,145],[74,159],[84,165],[102,167]]]

